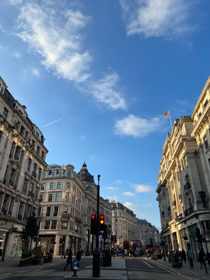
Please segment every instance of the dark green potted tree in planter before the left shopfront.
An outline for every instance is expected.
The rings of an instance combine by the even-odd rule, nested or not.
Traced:
[[[22,250],[19,267],[32,265],[32,240],[39,235],[39,226],[37,225],[35,213],[32,213],[31,216],[27,217],[26,224],[22,229],[21,238],[26,241],[26,246],[25,249]]]

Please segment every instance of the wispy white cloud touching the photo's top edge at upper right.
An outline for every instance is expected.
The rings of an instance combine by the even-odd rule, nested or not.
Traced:
[[[173,37],[197,29],[188,23],[191,1],[120,0],[120,3],[128,35]]]

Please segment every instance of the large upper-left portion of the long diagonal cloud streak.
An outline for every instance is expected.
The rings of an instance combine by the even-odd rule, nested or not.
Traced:
[[[92,61],[88,51],[80,52],[81,37],[78,35],[88,19],[80,11],[63,13],[27,3],[21,7],[17,35],[29,44],[31,51],[42,56],[42,64],[47,69],[54,69],[63,78],[81,82],[88,78],[86,70]]]

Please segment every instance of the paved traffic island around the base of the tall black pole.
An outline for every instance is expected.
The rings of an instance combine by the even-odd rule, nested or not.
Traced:
[[[78,270],[76,276],[72,277],[73,273],[69,273],[64,277],[64,279],[92,279],[92,266],[88,265],[84,267],[81,271]],[[126,273],[126,264],[125,259],[122,257],[115,257],[112,258],[112,266],[101,267],[100,270],[100,278],[94,277],[95,280],[103,280],[103,279],[121,279],[127,280],[127,273]]]

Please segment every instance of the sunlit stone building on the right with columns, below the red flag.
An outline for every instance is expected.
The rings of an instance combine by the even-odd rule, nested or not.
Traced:
[[[168,249],[186,249],[191,243],[194,259],[199,244],[195,228],[206,239],[210,251],[210,78],[191,116],[174,122],[167,134],[158,175],[158,193],[162,235]],[[205,198],[203,198],[205,197]]]

